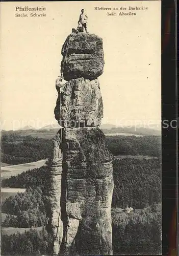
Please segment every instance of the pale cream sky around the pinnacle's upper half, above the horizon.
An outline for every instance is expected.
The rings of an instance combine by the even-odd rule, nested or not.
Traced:
[[[16,6],[45,7],[17,12]],[[131,7],[148,10],[129,11]],[[116,11],[95,7],[118,8]],[[123,12],[136,15],[121,16]],[[103,38],[104,73],[98,77],[104,103],[102,123],[128,125],[161,120],[161,1],[1,2],[1,128],[37,129],[57,123],[55,80],[61,48],[81,9],[88,31]],[[116,12],[116,16],[107,15]],[[15,17],[16,13],[28,17]],[[30,13],[44,13],[30,17]]]

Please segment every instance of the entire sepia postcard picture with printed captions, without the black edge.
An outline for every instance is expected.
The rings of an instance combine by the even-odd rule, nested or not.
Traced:
[[[1,255],[162,255],[161,1],[1,2],[0,46]]]

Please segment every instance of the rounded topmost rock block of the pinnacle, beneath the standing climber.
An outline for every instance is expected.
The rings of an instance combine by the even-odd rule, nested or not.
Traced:
[[[63,56],[65,56],[67,49],[68,55],[63,70],[65,80],[69,81],[80,77],[92,80],[103,74],[104,51],[102,38],[95,34],[83,32],[74,34],[73,37],[69,35],[62,47]],[[63,63],[64,58],[61,67]]]

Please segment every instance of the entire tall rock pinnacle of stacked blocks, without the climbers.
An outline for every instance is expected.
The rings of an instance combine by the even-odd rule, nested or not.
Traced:
[[[104,69],[103,40],[83,32],[69,35],[62,55],[67,82],[59,92],[55,118],[64,129],[54,138],[47,189],[53,254],[110,255],[112,155],[98,127],[103,118],[97,79]]]

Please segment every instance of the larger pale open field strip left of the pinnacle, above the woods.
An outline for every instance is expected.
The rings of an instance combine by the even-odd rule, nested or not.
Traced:
[[[1,168],[1,178],[6,179],[11,176],[17,176],[27,170],[40,168],[41,166],[45,165],[46,159],[31,162],[31,163],[24,163],[24,164],[17,164],[17,165],[10,165]]]

